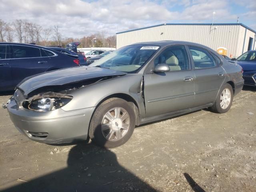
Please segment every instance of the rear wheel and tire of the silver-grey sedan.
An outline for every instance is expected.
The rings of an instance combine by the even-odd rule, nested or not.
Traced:
[[[227,90],[230,94],[226,92]],[[233,88],[230,84],[226,83],[220,88],[216,101],[214,102],[214,105],[210,107],[210,110],[215,113],[226,113],[230,109],[232,102]]]

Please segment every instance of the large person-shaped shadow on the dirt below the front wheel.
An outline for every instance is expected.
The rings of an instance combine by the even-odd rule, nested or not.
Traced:
[[[56,155],[56,154],[54,154]],[[80,143],[68,154],[68,167],[40,176],[4,192],[156,192],[120,166],[116,154],[93,144]]]

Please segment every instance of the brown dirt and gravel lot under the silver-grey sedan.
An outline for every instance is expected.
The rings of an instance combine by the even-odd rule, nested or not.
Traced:
[[[0,190],[255,192],[255,91],[245,88],[226,114],[200,110],[139,126],[112,150],[30,141],[0,109]]]

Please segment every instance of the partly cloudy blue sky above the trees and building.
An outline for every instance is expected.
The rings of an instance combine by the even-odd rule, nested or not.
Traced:
[[[240,22],[256,30],[256,0],[0,0],[0,19],[58,25],[62,37],[107,35],[163,23]]]

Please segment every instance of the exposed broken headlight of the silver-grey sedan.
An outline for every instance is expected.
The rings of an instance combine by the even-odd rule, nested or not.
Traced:
[[[71,100],[72,96],[39,98],[36,100],[32,100],[28,104],[28,109],[40,112],[52,111],[63,107]]]

